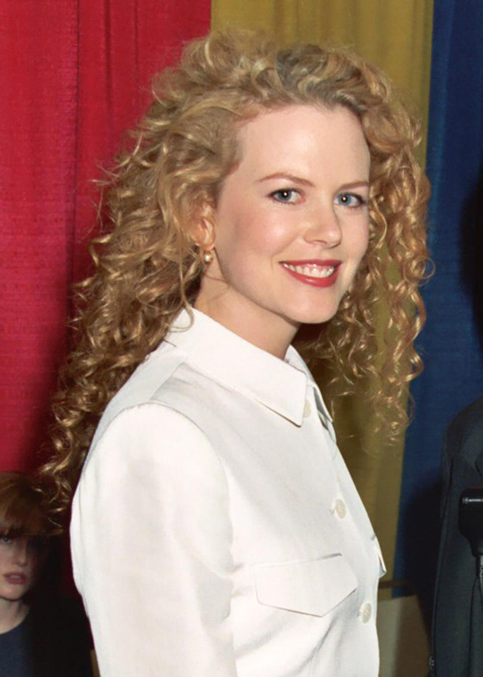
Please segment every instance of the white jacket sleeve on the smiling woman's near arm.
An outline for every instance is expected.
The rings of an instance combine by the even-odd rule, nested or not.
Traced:
[[[102,677],[236,676],[227,479],[195,424],[156,403],[118,414],[71,539]]]

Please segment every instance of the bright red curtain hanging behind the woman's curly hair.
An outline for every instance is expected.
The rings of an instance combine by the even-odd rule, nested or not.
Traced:
[[[0,0],[0,470],[30,470],[102,176],[210,0]]]

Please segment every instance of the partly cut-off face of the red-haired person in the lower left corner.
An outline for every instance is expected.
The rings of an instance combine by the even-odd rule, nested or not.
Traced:
[[[39,552],[29,536],[0,536],[0,599],[20,600],[37,580]]]

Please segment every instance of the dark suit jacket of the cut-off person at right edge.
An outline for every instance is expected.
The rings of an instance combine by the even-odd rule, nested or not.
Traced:
[[[459,497],[466,487],[482,485],[483,397],[451,422],[442,451],[442,532],[432,637],[436,677],[468,675],[476,560],[469,542],[459,532]]]

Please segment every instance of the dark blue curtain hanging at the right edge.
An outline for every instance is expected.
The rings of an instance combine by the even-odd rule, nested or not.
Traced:
[[[423,290],[426,364],[413,385],[395,577],[430,610],[439,539],[440,450],[451,418],[483,394],[483,2],[434,3],[428,174],[430,252]]]

